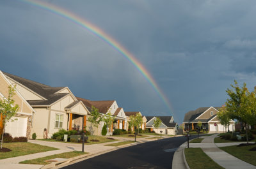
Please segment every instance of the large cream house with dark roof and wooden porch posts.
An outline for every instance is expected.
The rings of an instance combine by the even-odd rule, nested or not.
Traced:
[[[59,129],[83,129],[89,110],[68,87],[51,87],[10,73],[5,77],[35,110],[31,132],[36,138],[49,138]]]

